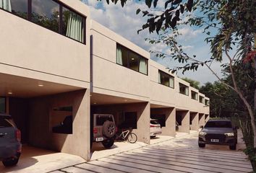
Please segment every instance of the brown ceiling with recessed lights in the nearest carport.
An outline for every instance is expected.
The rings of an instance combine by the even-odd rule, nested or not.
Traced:
[[[78,89],[81,88],[0,73],[0,96],[28,98]]]

